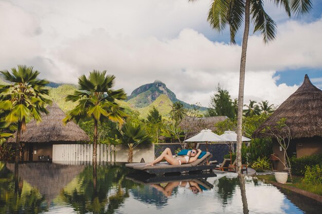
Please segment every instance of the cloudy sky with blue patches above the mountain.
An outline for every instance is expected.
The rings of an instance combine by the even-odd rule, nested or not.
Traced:
[[[268,1],[267,1],[268,2]],[[33,66],[41,77],[77,83],[93,69],[116,76],[115,88],[128,94],[154,80],[177,98],[208,106],[218,84],[238,96],[241,36],[207,23],[210,0],[0,0],[0,70]],[[248,41],[245,103],[280,104],[307,73],[322,88],[322,1],[310,15],[291,20],[269,3],[277,22],[269,45],[251,32]]]

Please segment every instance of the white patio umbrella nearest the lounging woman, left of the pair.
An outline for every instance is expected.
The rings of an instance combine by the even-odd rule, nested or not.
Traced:
[[[206,142],[206,148],[208,151],[208,142],[227,142],[227,140],[222,138],[220,135],[213,133],[210,129],[203,129],[198,134],[184,142]]]

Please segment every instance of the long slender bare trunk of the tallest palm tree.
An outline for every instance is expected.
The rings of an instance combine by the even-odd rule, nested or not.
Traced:
[[[236,171],[241,173],[242,158],[242,120],[243,120],[243,104],[244,104],[244,84],[245,84],[245,68],[246,68],[246,53],[247,53],[247,41],[249,33],[249,7],[250,0],[246,0],[245,5],[245,29],[243,35],[242,53],[240,60],[240,72],[239,72],[239,92],[238,92],[238,114],[237,114],[237,152],[236,152]]]

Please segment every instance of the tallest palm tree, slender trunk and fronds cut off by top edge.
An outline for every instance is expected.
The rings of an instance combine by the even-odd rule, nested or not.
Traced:
[[[195,2],[196,0],[188,0]],[[311,0],[271,0],[276,6],[282,7],[291,17],[291,13],[295,15],[303,15],[312,9]],[[263,0],[212,0],[208,11],[208,22],[211,27],[222,32],[226,26],[229,26],[230,42],[235,44],[235,36],[242,27],[244,18],[244,33],[242,40],[242,52],[240,60],[239,72],[239,92],[238,92],[238,114],[237,114],[237,171],[241,171],[241,146],[242,146],[242,116],[244,102],[244,83],[246,68],[246,52],[249,34],[249,23],[252,18],[254,24],[254,32],[261,32],[265,43],[275,39],[276,23],[264,10]]]

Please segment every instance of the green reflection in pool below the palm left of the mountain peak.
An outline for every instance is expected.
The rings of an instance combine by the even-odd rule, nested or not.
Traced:
[[[113,213],[134,187],[125,179],[126,173],[121,166],[87,166],[63,189],[61,197],[78,213]]]

